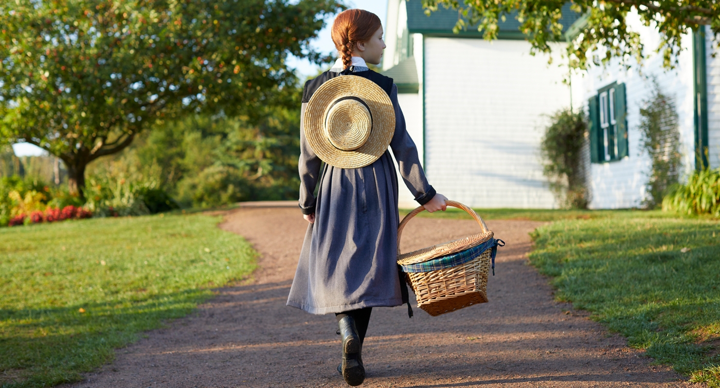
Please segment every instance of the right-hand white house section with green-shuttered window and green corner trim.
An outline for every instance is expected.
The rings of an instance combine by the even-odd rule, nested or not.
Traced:
[[[628,22],[652,53],[660,42],[657,30],[643,26],[636,15]],[[683,175],[703,165],[720,167],[720,57],[712,56],[717,45],[712,34],[703,31],[684,36],[683,46],[687,48],[672,70],[663,67],[662,55],[654,54],[642,67],[626,70],[615,63],[585,74],[582,93],[598,128],[591,131],[589,142],[591,208],[633,208],[646,198],[650,159],[642,151],[639,124],[653,79],[678,114]],[[613,120],[622,116],[625,122]],[[615,129],[619,131],[613,136]]]

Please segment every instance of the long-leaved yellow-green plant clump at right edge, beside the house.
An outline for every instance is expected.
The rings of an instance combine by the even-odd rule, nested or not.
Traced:
[[[662,210],[720,218],[720,168],[695,171],[688,183],[672,185],[662,200]]]

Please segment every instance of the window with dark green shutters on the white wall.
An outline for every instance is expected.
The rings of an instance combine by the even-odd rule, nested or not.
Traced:
[[[628,156],[625,84],[612,83],[590,98],[590,154],[594,163]]]

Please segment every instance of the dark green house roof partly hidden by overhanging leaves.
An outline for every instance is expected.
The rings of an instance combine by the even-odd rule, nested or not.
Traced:
[[[477,24],[474,26],[468,26],[464,31],[460,31],[459,34],[452,32],[453,27],[459,17],[458,11],[455,9],[446,9],[444,6],[438,6],[437,11],[433,11],[428,17],[423,9],[423,2],[421,0],[408,0],[406,1],[408,11],[408,32],[427,34],[433,36],[448,36],[448,37],[482,37],[482,32],[477,31]],[[570,2],[567,2],[562,6],[562,30],[567,32],[570,26],[580,19],[582,15],[570,9]],[[500,31],[498,37],[500,39],[525,39],[523,33],[518,29],[520,22],[515,18],[515,14],[510,14],[505,19],[505,22],[498,22]]]

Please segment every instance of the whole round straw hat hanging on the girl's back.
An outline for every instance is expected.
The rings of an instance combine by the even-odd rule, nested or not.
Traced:
[[[360,168],[387,151],[395,134],[395,108],[377,83],[342,75],[312,94],[303,122],[305,138],[323,162]]]

